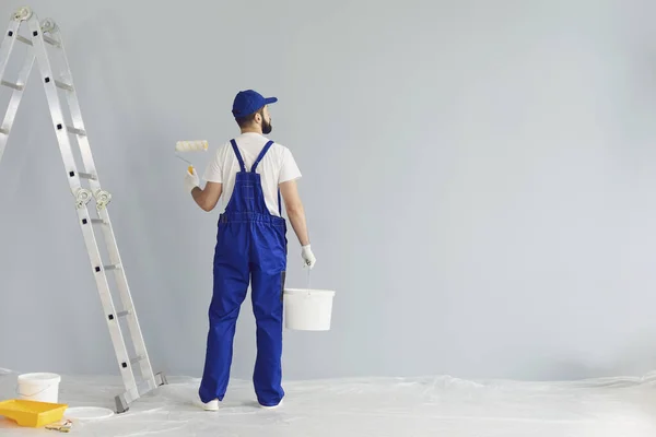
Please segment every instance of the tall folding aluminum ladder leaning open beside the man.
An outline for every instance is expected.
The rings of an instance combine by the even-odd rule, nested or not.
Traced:
[[[26,36],[20,34],[22,27],[27,27]],[[4,80],[4,73],[7,72],[7,66],[15,44],[25,44],[27,46],[27,55],[22,69],[17,72],[17,81],[10,82]],[[52,54],[49,54],[48,49]],[[57,60],[56,56],[59,57],[60,61],[58,76],[52,71],[52,63]],[[0,160],[7,147],[9,134],[35,59],[38,64],[42,83],[46,91],[55,133],[61,151],[63,166],[66,167],[66,175],[71,193],[73,194],[80,227],[91,260],[91,271],[101,295],[101,302],[106,316],[105,320],[109,328],[112,343],[114,344],[118,367],[124,380],[126,391],[115,399],[116,412],[124,413],[128,411],[129,405],[133,401],[167,382],[162,373],[156,375],[153,373],[145,350],[145,343],[141,328],[139,327],[126,272],[120,260],[107,211],[107,204],[112,200],[112,194],[101,188],[59,28],[55,21],[50,19],[39,22],[36,14],[26,7],[20,8],[12,13],[9,28],[4,34],[2,46],[0,46],[0,85],[13,90],[4,119],[2,120],[2,125],[0,125]],[[70,111],[70,123],[67,123],[65,119],[62,102],[58,90],[66,92],[66,101],[68,102]],[[77,139],[84,172],[78,172],[71,149],[71,138]],[[87,181],[89,188],[82,186],[83,180]],[[92,199],[95,201],[95,210],[97,212],[93,217],[90,215],[90,209],[87,208],[87,203]],[[102,229],[104,238],[101,239],[104,239],[106,244],[106,253],[108,253],[109,258],[108,263],[103,262],[94,228]],[[115,275],[115,283],[121,304],[120,310],[116,309],[112,297],[108,272],[113,272]],[[124,321],[126,328],[121,328],[121,321]],[[126,342],[127,339],[124,336],[125,329],[129,331],[129,338],[131,339],[132,349],[130,352]]]

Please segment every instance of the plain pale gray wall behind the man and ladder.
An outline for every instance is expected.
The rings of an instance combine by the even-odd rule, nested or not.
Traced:
[[[95,3],[31,2],[62,28],[157,370],[200,376],[218,216],[184,191],[173,145],[213,153],[246,87],[280,97],[271,137],[305,175],[312,285],[338,293],[330,332],[285,334],[288,378],[656,367],[654,3]],[[30,85],[0,163],[0,367],[117,373]],[[254,334],[247,300],[235,377]]]

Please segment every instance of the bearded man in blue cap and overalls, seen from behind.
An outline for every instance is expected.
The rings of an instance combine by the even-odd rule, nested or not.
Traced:
[[[286,270],[286,223],[280,196],[302,246],[304,264],[312,269],[305,212],[296,179],[301,172],[285,146],[269,141],[271,116],[265,98],[253,91],[239,92],[233,116],[242,134],[221,146],[199,187],[196,172],[187,172],[185,186],[196,203],[212,211],[222,194],[230,199],[219,217],[214,249],[214,286],[209,309],[210,329],[199,395],[203,408],[219,409],[230,379],[233,339],[239,307],[251,282],[253,311],[257,323],[257,357],[253,382],[258,402],[274,408],[284,397],[282,380],[282,293]]]

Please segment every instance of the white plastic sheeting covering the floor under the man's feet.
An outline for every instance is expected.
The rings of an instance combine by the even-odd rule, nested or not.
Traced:
[[[0,400],[16,374],[0,370]],[[196,378],[172,378],[129,412],[75,422],[68,435],[224,436],[656,436],[656,376],[572,382],[467,381],[447,376],[286,381],[278,410],[259,409],[249,381],[231,382],[218,412],[197,405]],[[117,377],[62,377],[60,402],[113,408]],[[0,417],[0,436],[66,435]]]

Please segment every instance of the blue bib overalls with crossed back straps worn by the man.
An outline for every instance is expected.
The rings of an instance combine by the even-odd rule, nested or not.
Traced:
[[[223,400],[230,379],[233,339],[239,307],[251,280],[253,312],[257,324],[257,356],[253,383],[261,405],[280,403],[282,380],[282,292],[286,269],[286,224],[269,212],[256,173],[273,144],[269,141],[246,172],[239,161],[235,187],[225,212],[219,217],[214,250],[214,287],[209,309],[204,371],[199,395],[202,402]],[[280,191],[278,193],[280,205]]]

